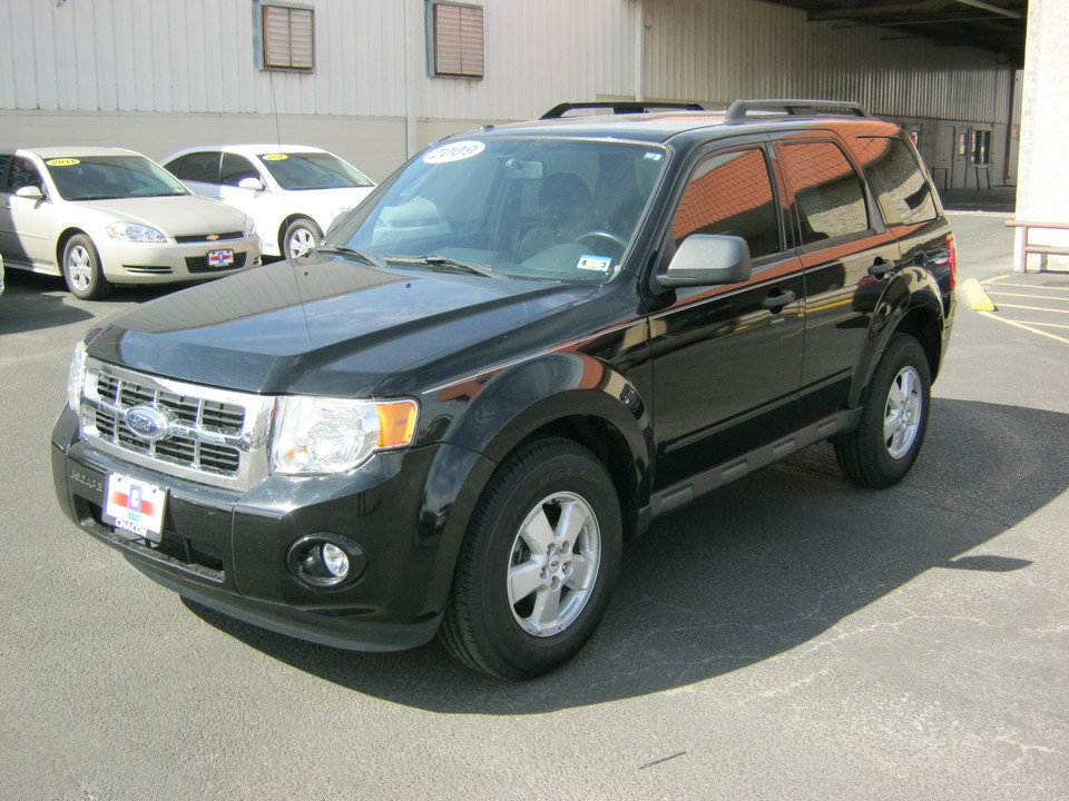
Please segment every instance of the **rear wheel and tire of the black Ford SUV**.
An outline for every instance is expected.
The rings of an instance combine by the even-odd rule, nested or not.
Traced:
[[[924,442],[931,387],[924,349],[913,337],[895,334],[869,383],[857,428],[835,442],[847,478],[882,488],[905,477]]]

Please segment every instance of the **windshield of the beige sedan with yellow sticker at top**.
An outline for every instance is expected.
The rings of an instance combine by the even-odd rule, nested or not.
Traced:
[[[82,156],[45,162],[65,200],[188,195],[163,167],[144,156]]]

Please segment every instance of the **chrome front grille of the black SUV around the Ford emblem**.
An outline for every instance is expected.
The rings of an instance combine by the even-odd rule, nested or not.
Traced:
[[[158,378],[90,359],[82,435],[102,449],[163,473],[247,488],[267,474],[271,398]],[[127,417],[149,411],[163,436],[136,433]]]

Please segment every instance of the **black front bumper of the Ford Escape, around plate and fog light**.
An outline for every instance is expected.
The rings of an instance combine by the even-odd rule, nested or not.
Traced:
[[[51,454],[65,514],[145,575],[254,625],[365,651],[414,647],[434,635],[469,503],[423,487],[434,465],[465,475],[483,461],[437,445],[382,454],[340,476],[269,476],[239,493],[100,453],[79,439],[69,408],[57,421]],[[112,474],[166,490],[159,544],[104,522]],[[315,587],[287,567],[293,543],[316,533],[359,544],[366,560],[357,578]]]

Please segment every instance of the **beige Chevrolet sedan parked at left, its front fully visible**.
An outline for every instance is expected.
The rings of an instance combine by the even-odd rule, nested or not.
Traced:
[[[0,150],[0,256],[8,268],[62,275],[77,297],[115,284],[216,278],[253,267],[253,219],[197,197],[133,150]]]

